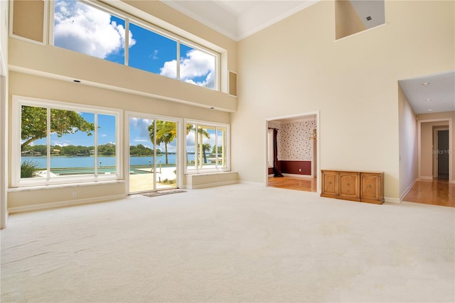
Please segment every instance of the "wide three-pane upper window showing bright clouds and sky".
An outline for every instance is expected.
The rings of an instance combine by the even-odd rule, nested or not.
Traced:
[[[157,75],[218,89],[213,51],[102,4],[55,0],[53,44]]]

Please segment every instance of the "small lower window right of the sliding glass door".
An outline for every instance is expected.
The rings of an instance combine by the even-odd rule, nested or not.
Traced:
[[[186,172],[229,170],[229,126],[186,122]]]

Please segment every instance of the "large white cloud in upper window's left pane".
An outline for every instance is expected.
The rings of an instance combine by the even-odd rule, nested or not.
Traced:
[[[122,24],[111,15],[78,1],[55,1],[54,44],[105,58],[124,48]],[[129,31],[129,46],[136,43]]]

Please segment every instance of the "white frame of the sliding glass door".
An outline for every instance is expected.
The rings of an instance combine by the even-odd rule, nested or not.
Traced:
[[[124,121],[124,165],[125,165],[125,189],[127,194],[132,194],[129,192],[129,119],[134,118],[141,118],[141,119],[150,119],[153,121],[170,121],[176,123],[177,128],[177,141],[176,141],[176,177],[177,177],[177,188],[182,188],[183,185],[183,144],[185,143],[185,138],[183,138],[183,119],[170,117],[170,116],[161,116],[156,114],[147,114],[147,113],[139,113],[137,111],[126,111],[125,112],[125,121]],[[156,148],[154,148],[156,150]],[[155,159],[155,157],[154,157]],[[154,170],[154,189],[156,190],[156,170]]]

